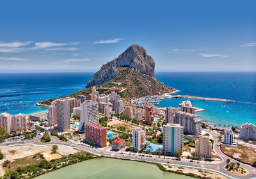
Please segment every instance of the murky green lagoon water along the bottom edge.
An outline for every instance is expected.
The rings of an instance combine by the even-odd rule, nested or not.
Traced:
[[[36,177],[37,179],[49,178],[147,178],[147,179],[184,179],[191,178],[185,175],[165,173],[154,164],[142,162],[132,162],[117,159],[93,159],[63,167],[45,175]]]

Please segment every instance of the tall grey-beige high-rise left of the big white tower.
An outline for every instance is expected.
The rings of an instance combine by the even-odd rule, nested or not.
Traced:
[[[70,131],[70,102],[67,99],[56,100],[56,117],[58,129]]]

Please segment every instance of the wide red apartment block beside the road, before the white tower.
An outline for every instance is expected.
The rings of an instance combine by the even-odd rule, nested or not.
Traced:
[[[106,146],[107,143],[107,128],[100,125],[90,123],[84,124],[85,142],[100,147]]]

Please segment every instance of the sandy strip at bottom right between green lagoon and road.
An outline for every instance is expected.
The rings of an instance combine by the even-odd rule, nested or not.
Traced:
[[[164,165],[163,165],[164,166]],[[213,172],[213,171],[206,171],[202,169],[194,169],[191,167],[178,167],[178,166],[164,166],[166,170],[169,171],[180,171],[182,173],[194,173],[196,175],[200,175],[202,177],[211,177],[216,179],[225,179],[227,177],[220,175],[219,173]]]

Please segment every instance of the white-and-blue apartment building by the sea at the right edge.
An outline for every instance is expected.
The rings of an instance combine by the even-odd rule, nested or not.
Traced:
[[[252,123],[243,123],[240,127],[239,137],[244,140],[256,141],[256,125]]]

